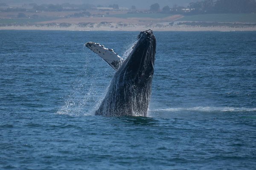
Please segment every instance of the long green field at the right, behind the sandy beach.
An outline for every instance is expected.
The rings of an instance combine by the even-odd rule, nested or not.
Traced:
[[[256,14],[202,14],[188,15],[178,21],[201,21],[201,22],[244,22],[256,23]]]

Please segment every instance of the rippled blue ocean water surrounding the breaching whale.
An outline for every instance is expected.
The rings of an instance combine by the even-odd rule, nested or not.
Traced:
[[[255,170],[256,32],[154,32],[148,117],[94,116],[138,31],[0,31],[0,170]]]

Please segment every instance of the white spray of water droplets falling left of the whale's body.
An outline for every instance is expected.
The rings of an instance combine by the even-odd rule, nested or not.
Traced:
[[[100,77],[100,72],[93,71],[92,60],[89,55],[85,55],[83,74],[73,83],[70,95],[66,97],[63,106],[56,112],[57,114],[94,115],[106,90],[98,88],[97,79]],[[105,72],[107,69],[109,68],[106,67]]]

